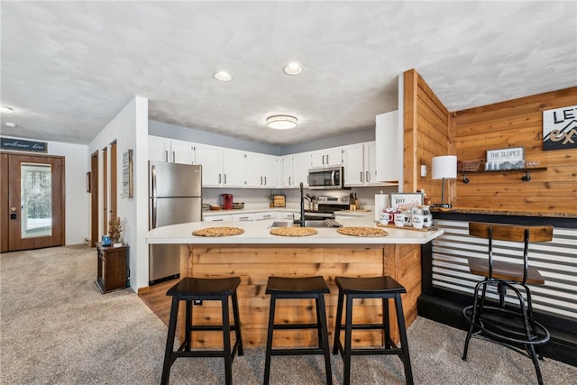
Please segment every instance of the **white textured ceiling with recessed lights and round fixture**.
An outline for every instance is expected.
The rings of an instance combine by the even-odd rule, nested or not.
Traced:
[[[287,145],[373,127],[408,69],[449,111],[573,87],[576,4],[2,1],[2,135],[87,143],[143,96],[152,120]]]

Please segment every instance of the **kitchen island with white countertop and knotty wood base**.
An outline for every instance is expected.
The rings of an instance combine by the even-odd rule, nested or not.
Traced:
[[[375,227],[373,214],[340,220],[345,226]],[[195,230],[214,227],[214,223],[195,222],[160,227],[149,232],[148,243],[179,243],[181,277],[230,277],[242,280],[238,289],[242,320],[243,342],[247,346],[266,344],[269,296],[264,292],[270,275],[285,277],[325,277],[331,293],[326,296],[326,314],[329,333],[334,330],[334,315],[338,289],[335,276],[370,277],[389,275],[407,289],[403,306],[407,325],[417,316],[417,298],[421,294],[421,247],[430,244],[443,230],[428,232],[386,228],[387,236],[356,237],[343,235],[334,228],[318,228],[317,234],[288,237],[270,234],[271,221],[221,222],[218,226],[234,226],[244,233],[224,237],[192,235]],[[289,302],[289,301],[288,301]],[[182,312],[180,312],[182,313]],[[220,305],[207,302],[193,312],[196,323],[219,323]],[[390,313],[394,315],[392,304]],[[378,300],[363,300],[355,305],[355,322],[381,317]],[[277,307],[277,319],[292,322],[315,317],[313,303],[294,300]],[[397,338],[396,321],[391,321],[391,333]],[[363,335],[364,334],[364,335]],[[376,331],[358,332],[358,344],[380,344],[381,334]],[[196,346],[218,346],[222,336],[197,333]],[[305,346],[316,344],[316,333],[300,331],[275,334],[275,345]]]

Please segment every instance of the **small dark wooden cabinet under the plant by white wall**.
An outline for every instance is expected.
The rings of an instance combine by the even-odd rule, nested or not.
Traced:
[[[103,246],[96,243],[98,252],[98,268],[96,286],[102,294],[109,291],[124,289],[128,280],[128,246]]]

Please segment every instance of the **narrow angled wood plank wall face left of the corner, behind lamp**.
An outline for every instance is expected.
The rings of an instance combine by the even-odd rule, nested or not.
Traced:
[[[449,112],[415,69],[404,73],[404,172],[403,191],[425,189],[433,203],[441,202],[440,180],[431,179],[431,159],[454,154],[449,133]],[[420,166],[426,165],[427,176],[420,176]],[[445,182],[447,197],[454,202],[452,185]]]

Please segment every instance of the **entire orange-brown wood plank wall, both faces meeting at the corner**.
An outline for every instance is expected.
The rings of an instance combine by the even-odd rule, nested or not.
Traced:
[[[543,151],[543,111],[577,105],[577,87],[448,113],[415,69],[404,73],[405,192],[425,188],[441,201],[440,180],[431,179],[431,159],[456,154],[459,160],[486,159],[487,150],[524,147],[526,160],[545,171],[521,181],[521,172],[469,174],[446,181],[445,201],[457,208],[527,213],[577,213],[577,149]],[[576,138],[577,139],[577,138]],[[428,174],[420,177],[420,165]]]

